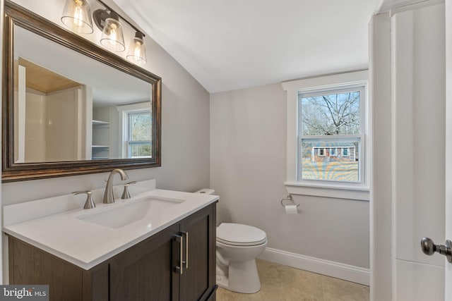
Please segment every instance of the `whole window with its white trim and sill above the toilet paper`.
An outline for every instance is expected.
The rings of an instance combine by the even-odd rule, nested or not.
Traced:
[[[283,82],[287,191],[369,199],[367,70]]]

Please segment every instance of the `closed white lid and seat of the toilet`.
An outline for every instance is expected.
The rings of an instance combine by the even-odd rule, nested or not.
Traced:
[[[226,245],[261,245],[267,235],[261,229],[240,223],[221,223],[217,227],[217,240]]]

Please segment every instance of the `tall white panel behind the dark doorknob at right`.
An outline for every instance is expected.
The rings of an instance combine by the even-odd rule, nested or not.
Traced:
[[[432,241],[444,245],[446,184],[452,183],[444,177],[452,155],[445,139],[444,11],[436,3],[391,17],[394,301],[443,301],[450,286],[444,257],[420,248],[425,236],[432,238],[424,242],[426,252],[433,252]]]

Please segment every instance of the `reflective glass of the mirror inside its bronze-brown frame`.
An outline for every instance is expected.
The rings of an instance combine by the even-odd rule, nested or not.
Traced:
[[[14,162],[152,157],[152,84],[14,26]]]

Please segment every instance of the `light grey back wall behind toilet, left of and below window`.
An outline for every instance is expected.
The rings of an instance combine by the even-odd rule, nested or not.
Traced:
[[[210,95],[218,222],[263,229],[270,249],[367,269],[369,202],[293,195],[301,214],[284,213],[286,102],[280,83]]]

